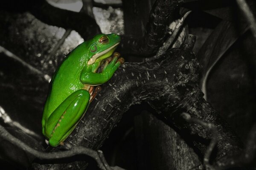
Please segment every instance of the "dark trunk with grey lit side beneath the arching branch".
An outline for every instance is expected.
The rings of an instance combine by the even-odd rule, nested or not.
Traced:
[[[192,147],[151,113],[135,117],[135,132],[139,169],[190,170],[202,164]]]

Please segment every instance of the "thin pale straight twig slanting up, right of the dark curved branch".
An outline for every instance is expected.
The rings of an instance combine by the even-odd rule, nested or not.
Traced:
[[[165,53],[167,51],[167,49],[169,48],[170,45],[172,45],[175,37],[177,36],[178,32],[180,31],[181,26],[183,26],[184,20],[186,19],[186,17],[189,15],[191,11],[187,11],[186,14],[184,14],[184,16],[180,19],[179,23],[177,23],[174,31],[172,32],[172,35],[169,37],[169,39],[163,44],[162,47],[159,48],[159,50],[157,51],[157,55],[156,58],[158,58],[160,55],[162,55],[163,53]]]

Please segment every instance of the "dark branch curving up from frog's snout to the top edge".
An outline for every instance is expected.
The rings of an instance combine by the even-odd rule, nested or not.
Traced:
[[[168,35],[167,28],[174,21],[175,11],[184,2],[186,0],[157,0],[151,9],[144,36],[122,36],[122,53],[140,56],[154,54]]]

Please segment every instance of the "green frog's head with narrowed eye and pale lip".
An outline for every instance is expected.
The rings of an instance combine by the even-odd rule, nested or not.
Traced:
[[[91,40],[87,65],[110,57],[121,38],[117,34],[98,34]]]

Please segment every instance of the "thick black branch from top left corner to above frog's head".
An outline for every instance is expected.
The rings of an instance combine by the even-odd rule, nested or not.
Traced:
[[[0,8],[15,12],[30,11],[48,25],[77,31],[84,40],[101,32],[96,21],[87,14],[56,8],[46,0],[9,0],[1,3]]]

